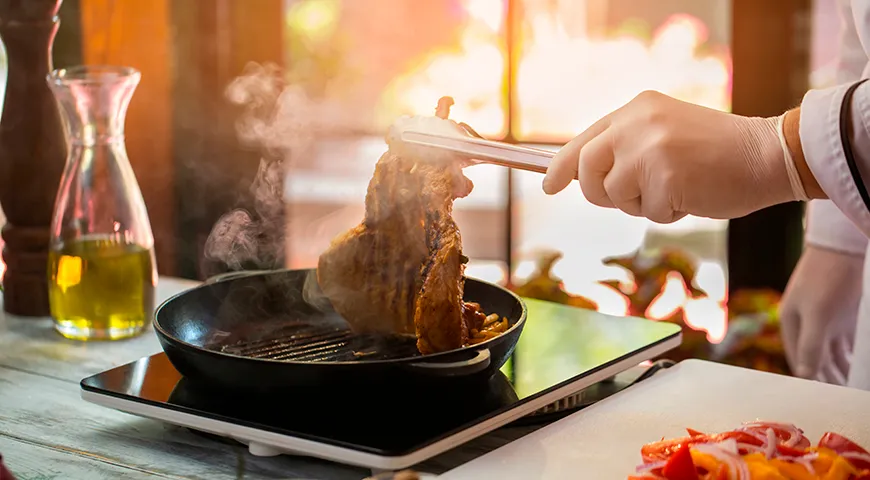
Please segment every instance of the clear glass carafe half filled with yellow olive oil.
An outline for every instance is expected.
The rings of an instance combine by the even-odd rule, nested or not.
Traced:
[[[51,315],[68,338],[131,337],[153,316],[154,237],[124,145],[140,76],[127,67],[80,66],[47,79],[69,148],[48,262]]]

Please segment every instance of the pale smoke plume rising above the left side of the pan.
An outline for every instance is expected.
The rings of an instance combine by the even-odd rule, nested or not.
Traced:
[[[205,259],[230,271],[283,268],[287,169],[312,151],[316,138],[341,130],[342,116],[301,86],[287,84],[272,64],[248,64],[225,94],[241,110],[239,141],[260,151],[261,159],[249,190],[252,210],[238,208],[217,221],[205,243]]]

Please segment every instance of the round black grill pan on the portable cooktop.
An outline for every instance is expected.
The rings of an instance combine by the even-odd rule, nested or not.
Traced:
[[[466,279],[465,300],[508,319],[505,333],[476,345],[420,355],[412,335],[354,334],[317,287],[316,271],[234,272],[161,304],[154,330],[189,381],[283,389],[488,378],[513,353],[526,306],[509,290]]]

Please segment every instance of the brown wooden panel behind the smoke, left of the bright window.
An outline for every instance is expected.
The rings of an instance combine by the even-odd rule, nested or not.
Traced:
[[[284,64],[282,0],[196,0],[171,5],[178,268],[186,278],[222,270],[203,246],[224,213],[250,207],[261,152],[239,145],[240,113],[226,88],[248,62]]]

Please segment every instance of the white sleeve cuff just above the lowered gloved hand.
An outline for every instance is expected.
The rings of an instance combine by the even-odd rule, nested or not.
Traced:
[[[830,200],[813,200],[807,205],[807,245],[864,256],[867,236]]]

